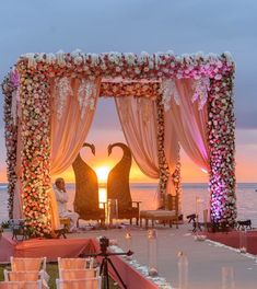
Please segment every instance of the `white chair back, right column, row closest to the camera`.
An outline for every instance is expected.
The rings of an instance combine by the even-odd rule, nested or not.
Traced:
[[[80,280],[59,280],[56,279],[57,289],[101,289],[101,277],[80,279]]]

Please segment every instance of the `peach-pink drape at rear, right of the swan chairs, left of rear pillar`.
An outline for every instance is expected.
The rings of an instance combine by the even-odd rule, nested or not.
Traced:
[[[156,104],[149,99],[115,97],[127,143],[140,170],[159,178]]]

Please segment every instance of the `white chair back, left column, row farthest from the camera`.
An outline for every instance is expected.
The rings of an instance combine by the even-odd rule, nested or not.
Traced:
[[[40,258],[23,258],[23,257],[10,257],[12,271],[21,270],[46,270],[46,257]]]

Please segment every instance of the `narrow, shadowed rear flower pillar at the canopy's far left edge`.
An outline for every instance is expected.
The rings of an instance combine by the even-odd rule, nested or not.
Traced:
[[[17,88],[11,81],[9,73],[2,82],[2,92],[4,94],[3,120],[4,120],[4,137],[7,147],[7,175],[8,175],[8,209],[9,218],[13,219],[13,197],[16,184],[16,141],[17,126],[14,124],[12,115],[12,95]]]

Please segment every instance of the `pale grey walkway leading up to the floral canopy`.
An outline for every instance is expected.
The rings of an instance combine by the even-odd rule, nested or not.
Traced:
[[[126,250],[125,229],[107,231],[87,231],[69,235],[70,238],[105,235],[116,239],[118,245]],[[138,228],[131,229],[135,258],[147,265],[147,231]],[[234,252],[224,246],[218,246],[209,241],[195,241],[187,226],[179,229],[160,227],[157,229],[159,242],[159,273],[178,287],[177,253],[185,252],[189,261],[188,289],[219,289],[222,288],[222,267],[233,267],[235,289],[257,288],[257,263],[255,259]],[[257,244],[256,244],[257,245]]]

